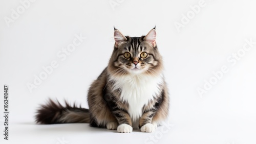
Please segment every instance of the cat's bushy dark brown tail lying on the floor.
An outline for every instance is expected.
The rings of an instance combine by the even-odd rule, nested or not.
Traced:
[[[89,109],[69,105],[62,106],[58,101],[49,99],[46,105],[41,105],[35,116],[38,124],[90,123]]]

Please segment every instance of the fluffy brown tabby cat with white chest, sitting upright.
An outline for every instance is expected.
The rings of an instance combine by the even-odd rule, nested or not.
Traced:
[[[155,28],[141,37],[114,28],[114,39],[108,66],[88,90],[89,109],[49,100],[37,110],[37,123],[90,123],[129,133],[154,132],[166,120],[169,97]]]

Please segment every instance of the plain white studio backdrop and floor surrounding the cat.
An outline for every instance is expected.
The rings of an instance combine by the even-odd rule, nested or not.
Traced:
[[[25,1],[25,0],[21,0]],[[119,3],[111,6],[110,2]],[[9,23],[19,1],[0,2],[0,106],[3,85],[10,87],[10,140],[4,143],[255,143],[256,44],[236,64],[228,62],[241,51],[245,39],[256,41],[256,2],[205,0],[206,6],[182,23],[190,6],[199,1],[36,1]],[[164,59],[170,93],[168,131],[135,130],[129,134],[91,128],[88,124],[36,125],[35,111],[48,98],[88,108],[87,90],[108,64],[114,39],[113,26],[124,35],[141,36],[156,26],[157,44]],[[87,37],[61,61],[58,51],[75,34]],[[59,64],[30,93],[42,66]],[[233,64],[233,65],[232,65]],[[213,78],[213,71],[228,72],[200,97],[197,89]],[[1,112],[2,113],[2,112]],[[2,114],[1,114],[2,115]],[[152,140],[154,139],[154,140]],[[68,141],[68,142],[67,142]],[[2,143],[2,142],[1,142]],[[63,142],[62,142],[63,143]]]

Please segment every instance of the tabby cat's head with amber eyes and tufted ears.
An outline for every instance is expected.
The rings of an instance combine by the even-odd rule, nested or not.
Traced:
[[[115,46],[108,69],[113,76],[159,75],[163,69],[162,57],[156,45],[156,30],[146,36],[124,36],[114,31]]]

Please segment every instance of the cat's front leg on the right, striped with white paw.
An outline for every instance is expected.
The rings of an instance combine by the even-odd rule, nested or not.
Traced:
[[[143,113],[139,121],[141,132],[154,132],[157,128],[157,123],[152,123],[152,117],[155,115],[155,110],[148,110]]]

